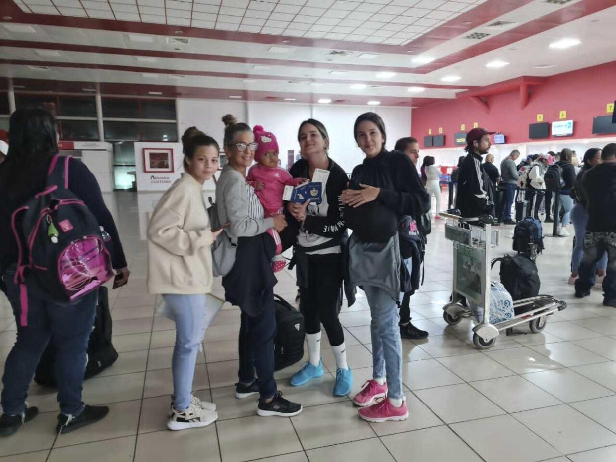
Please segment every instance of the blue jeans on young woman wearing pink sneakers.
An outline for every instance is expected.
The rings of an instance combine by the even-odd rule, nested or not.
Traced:
[[[387,378],[387,395],[402,399],[402,340],[400,315],[394,299],[376,286],[363,286],[372,314],[373,378]]]

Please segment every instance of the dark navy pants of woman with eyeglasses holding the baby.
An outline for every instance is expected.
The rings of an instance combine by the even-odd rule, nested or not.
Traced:
[[[238,379],[241,383],[254,382],[256,369],[259,377],[259,395],[262,398],[273,397],[278,388],[274,379],[274,337],[276,336],[276,315],[274,310],[274,289],[266,290],[267,302],[257,316],[241,312],[238,354],[240,367]]]

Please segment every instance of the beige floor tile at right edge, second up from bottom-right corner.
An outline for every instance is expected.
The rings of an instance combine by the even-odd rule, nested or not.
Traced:
[[[564,454],[616,444],[616,435],[569,407],[560,405],[513,415]]]

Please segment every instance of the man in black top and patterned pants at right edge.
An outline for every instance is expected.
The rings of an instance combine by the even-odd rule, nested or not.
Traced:
[[[588,224],[584,236],[584,256],[579,268],[580,278],[575,281],[575,296],[584,298],[590,295],[597,262],[607,252],[603,304],[616,308],[616,143],[603,148],[601,163],[584,174],[582,189],[588,200]]]

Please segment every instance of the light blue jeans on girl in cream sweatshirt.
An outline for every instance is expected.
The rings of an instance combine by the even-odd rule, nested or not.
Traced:
[[[176,322],[176,344],[171,359],[173,407],[184,411],[190,407],[195,362],[203,334],[220,307],[208,307],[205,294],[164,294],[163,299],[169,315]]]

